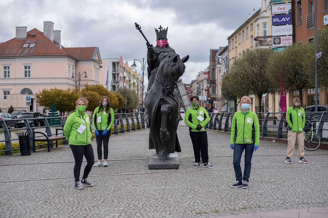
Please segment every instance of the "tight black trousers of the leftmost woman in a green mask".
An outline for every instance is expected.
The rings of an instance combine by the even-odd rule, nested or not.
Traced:
[[[78,182],[80,180],[80,171],[81,171],[81,165],[83,160],[83,155],[85,159],[87,160],[87,165],[84,168],[83,176],[82,178],[87,178],[92,166],[94,164],[94,154],[91,144],[88,145],[70,145],[75,165],[74,165],[74,179],[75,182]]]

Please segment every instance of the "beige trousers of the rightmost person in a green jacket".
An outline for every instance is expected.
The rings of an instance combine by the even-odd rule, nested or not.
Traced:
[[[288,131],[287,136],[287,157],[292,158],[294,149],[295,149],[295,143],[297,140],[298,145],[298,155],[297,157],[303,158],[304,157],[304,132],[292,132]]]

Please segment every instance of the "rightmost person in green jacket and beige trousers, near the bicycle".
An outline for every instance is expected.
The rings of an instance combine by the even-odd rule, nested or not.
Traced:
[[[291,158],[293,157],[295,149],[295,141],[298,144],[298,157],[300,163],[308,163],[304,158],[304,126],[305,126],[305,112],[304,108],[300,107],[299,98],[293,99],[293,106],[287,109],[286,121],[288,124],[288,135],[287,135],[287,155],[285,163],[292,163]]]

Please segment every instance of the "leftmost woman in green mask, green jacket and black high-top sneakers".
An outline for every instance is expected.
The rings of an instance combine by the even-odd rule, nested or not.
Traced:
[[[88,180],[88,175],[94,163],[94,154],[91,146],[92,132],[90,130],[90,120],[85,109],[88,107],[88,101],[79,98],[76,102],[76,109],[67,117],[64,125],[64,135],[70,144],[75,165],[74,178],[76,189],[83,189],[82,184],[93,186],[94,184]],[[87,165],[84,168],[83,176],[80,181],[80,171],[83,155],[87,159]]]

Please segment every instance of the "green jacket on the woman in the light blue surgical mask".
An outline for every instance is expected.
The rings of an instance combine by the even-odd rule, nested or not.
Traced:
[[[260,143],[260,125],[256,113],[248,110],[245,114],[237,111],[231,123],[231,144],[256,144]]]

